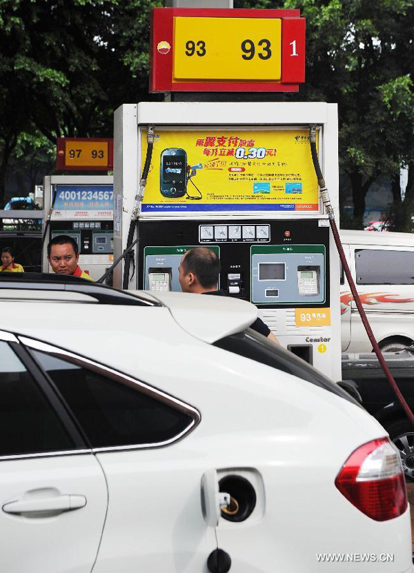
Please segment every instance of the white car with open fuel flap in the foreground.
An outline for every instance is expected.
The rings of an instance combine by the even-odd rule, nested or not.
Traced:
[[[0,279],[2,572],[413,572],[384,429],[253,305],[64,280]]]

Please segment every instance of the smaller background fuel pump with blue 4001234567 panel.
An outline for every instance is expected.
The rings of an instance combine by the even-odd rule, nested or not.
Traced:
[[[44,180],[42,268],[50,272],[47,245],[65,234],[79,247],[79,265],[97,280],[113,261],[113,178],[52,175]]]

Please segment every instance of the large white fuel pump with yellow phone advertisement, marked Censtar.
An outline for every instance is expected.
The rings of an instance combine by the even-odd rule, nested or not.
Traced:
[[[340,337],[333,335],[340,332],[339,259],[319,199],[310,123],[337,211],[335,104],[122,105],[115,112],[114,247],[117,259],[135,239],[135,273],[134,265],[117,265],[114,285],[180,290],[182,255],[212,248],[221,261],[219,288],[257,305],[282,345],[340,379]]]

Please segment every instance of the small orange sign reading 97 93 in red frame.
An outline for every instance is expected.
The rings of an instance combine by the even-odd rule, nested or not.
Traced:
[[[57,169],[76,171],[108,171],[113,169],[113,139],[59,137]]]

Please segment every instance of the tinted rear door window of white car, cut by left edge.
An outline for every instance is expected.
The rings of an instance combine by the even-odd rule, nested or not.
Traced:
[[[37,382],[8,343],[0,341],[0,456],[73,449]]]

